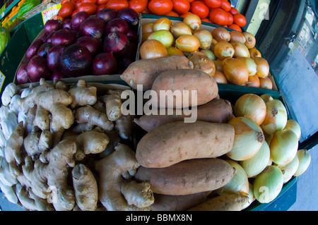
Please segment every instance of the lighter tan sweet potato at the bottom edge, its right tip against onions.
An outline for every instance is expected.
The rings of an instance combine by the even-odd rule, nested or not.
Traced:
[[[237,194],[220,195],[192,207],[189,211],[241,211],[248,200],[249,197]]]

